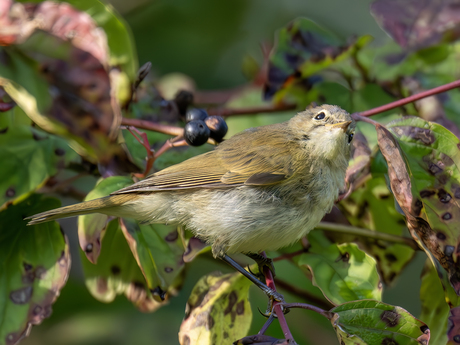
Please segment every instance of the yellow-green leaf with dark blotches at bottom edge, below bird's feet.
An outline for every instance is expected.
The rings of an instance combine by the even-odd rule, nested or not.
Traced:
[[[230,344],[245,336],[252,320],[250,285],[239,273],[201,278],[187,302],[180,344]]]

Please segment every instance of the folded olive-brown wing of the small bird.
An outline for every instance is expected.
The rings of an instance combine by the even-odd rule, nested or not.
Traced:
[[[290,177],[290,162],[282,124],[259,127],[233,136],[214,151],[163,169],[112,194],[269,185]]]

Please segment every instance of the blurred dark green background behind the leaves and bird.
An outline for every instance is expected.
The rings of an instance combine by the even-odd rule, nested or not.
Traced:
[[[318,24],[341,34],[370,34],[372,44],[387,39],[369,13],[370,0],[114,0],[112,5],[124,16],[132,29],[139,65],[152,62],[152,74],[163,77],[183,73],[196,83],[199,90],[234,88],[247,82],[242,64],[250,57],[263,61],[261,44],[273,44],[277,29],[297,17],[308,17]],[[239,121],[244,121],[240,119]],[[230,131],[232,124],[229,121]],[[94,181],[82,181],[92,186]],[[90,187],[89,187],[90,188]],[[73,203],[74,200],[66,200]],[[196,281],[206,273],[230,272],[223,263],[210,255],[201,256],[187,270],[186,285],[169,305],[152,314],[138,311],[124,296],[104,304],[87,291],[79,259],[76,219],[64,220],[73,250],[72,274],[61,296],[53,306],[49,319],[34,327],[24,345],[104,345],[104,344],[178,344],[177,333],[185,304]],[[405,282],[417,280],[424,256],[414,260],[392,289],[386,290],[384,301],[400,305],[414,315],[420,313],[419,287],[402,289]],[[289,281],[290,264],[277,264],[277,273]],[[310,284],[304,282],[293,284]],[[412,288],[414,285],[412,284]],[[252,289],[252,288],[251,288]],[[396,293],[397,291],[397,293]],[[294,298],[286,296],[288,301]],[[265,310],[266,298],[257,289],[251,290],[254,320],[250,334],[258,332],[265,319],[257,308]],[[328,321],[312,312],[293,310],[287,315],[296,339],[302,344],[337,344]],[[270,335],[282,337],[273,324]],[[308,330],[310,342],[303,342]]]

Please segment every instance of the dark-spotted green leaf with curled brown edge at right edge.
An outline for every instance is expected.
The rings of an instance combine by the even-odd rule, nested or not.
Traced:
[[[409,229],[429,255],[447,270],[460,293],[459,241],[460,141],[441,125],[415,117],[377,126],[379,147],[388,163],[393,194]]]

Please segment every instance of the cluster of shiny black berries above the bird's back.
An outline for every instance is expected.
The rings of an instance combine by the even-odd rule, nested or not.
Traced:
[[[192,108],[185,114],[184,139],[191,146],[200,146],[209,138],[221,142],[228,126],[221,116],[209,116],[206,110]]]

